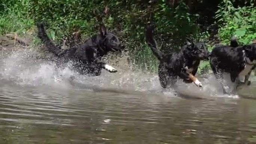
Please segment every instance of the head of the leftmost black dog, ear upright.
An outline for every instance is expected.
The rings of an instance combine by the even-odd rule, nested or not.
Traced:
[[[100,35],[103,38],[104,46],[107,51],[121,52],[124,49],[124,46],[119,42],[118,37],[113,33],[107,33],[107,29],[104,25],[100,26]]]

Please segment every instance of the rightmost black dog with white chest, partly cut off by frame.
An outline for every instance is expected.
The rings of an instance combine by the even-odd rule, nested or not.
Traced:
[[[256,64],[256,44],[238,46],[235,39],[231,39],[230,46],[216,45],[210,54],[210,65],[213,73],[223,87],[223,93],[231,94],[231,90],[223,83],[223,73],[230,73],[232,82],[247,83],[251,71]]]

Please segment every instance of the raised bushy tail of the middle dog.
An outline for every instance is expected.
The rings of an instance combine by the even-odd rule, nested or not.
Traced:
[[[157,43],[156,40],[153,37],[153,27],[148,25],[146,27],[146,33],[145,33],[145,37],[146,37],[146,41],[149,44],[151,50],[153,51],[154,55],[158,58],[158,60],[160,61],[163,58],[163,53],[161,51],[158,50],[157,48]]]

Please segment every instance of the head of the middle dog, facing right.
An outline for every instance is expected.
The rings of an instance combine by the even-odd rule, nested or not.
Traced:
[[[189,55],[195,59],[199,60],[208,60],[209,59],[209,51],[204,43],[194,43],[191,39],[186,38],[186,49],[189,50]]]

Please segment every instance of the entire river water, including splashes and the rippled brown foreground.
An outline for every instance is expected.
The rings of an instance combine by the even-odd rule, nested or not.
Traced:
[[[118,73],[86,77],[31,55],[0,61],[0,143],[256,143],[256,100],[223,95],[213,76],[203,88],[178,83],[176,96],[125,61]]]

